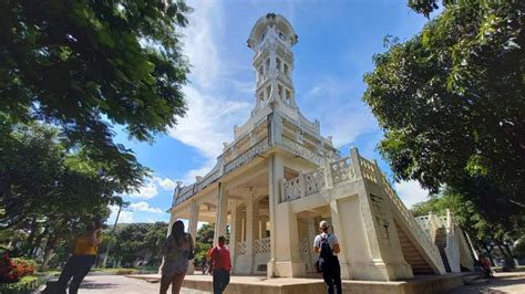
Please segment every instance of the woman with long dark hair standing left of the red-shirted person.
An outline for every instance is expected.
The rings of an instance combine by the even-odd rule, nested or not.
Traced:
[[[173,294],[179,293],[188,270],[188,256],[193,249],[193,239],[184,232],[184,223],[179,220],[176,221],[163,246],[164,263],[162,266],[161,294],[167,292],[169,284],[172,284]]]

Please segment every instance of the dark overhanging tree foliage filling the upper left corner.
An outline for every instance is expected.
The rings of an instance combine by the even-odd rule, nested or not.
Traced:
[[[151,141],[184,115],[188,10],[182,0],[2,0],[0,123],[59,126],[65,148],[136,188],[143,168],[109,122]]]

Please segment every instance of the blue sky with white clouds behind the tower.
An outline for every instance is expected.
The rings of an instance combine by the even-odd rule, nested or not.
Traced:
[[[183,31],[184,53],[192,64],[184,87],[187,115],[154,144],[116,140],[132,148],[138,160],[154,170],[153,179],[137,193],[125,196],[131,207],[120,222],[168,220],[177,180],[192,183],[215,164],[233,127],[248,118],[254,106],[253,52],[246,40],[254,23],[268,12],[287,18],[299,42],[294,46],[294,82],[298,105],[310,120],[319,119],[321,133],[333,136],[343,155],[356,146],[361,155],[387,164],[374,150],[382,133],[361,97],[362,76],[373,70],[372,55],[384,51],[388,34],[410,39],[426,22],[406,1],[188,1],[194,8]],[[415,182],[395,185],[410,207],[426,192]],[[109,222],[114,222],[112,213]]]

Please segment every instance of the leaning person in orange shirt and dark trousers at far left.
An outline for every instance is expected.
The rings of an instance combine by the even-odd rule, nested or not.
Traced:
[[[58,282],[60,293],[65,293],[71,277],[73,277],[73,281],[71,281],[69,293],[76,294],[79,292],[80,283],[82,283],[82,280],[84,280],[95,262],[100,243],[101,223],[94,221],[87,225],[85,233],[76,237],[74,240],[73,255],[65,263]]]

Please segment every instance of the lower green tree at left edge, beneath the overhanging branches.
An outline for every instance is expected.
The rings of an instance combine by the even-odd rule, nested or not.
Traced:
[[[27,232],[20,254],[44,249],[45,269],[56,246],[107,218],[107,206],[122,201],[115,195],[127,182],[101,172],[115,167],[89,160],[82,148],[65,148],[55,128],[33,123],[0,132],[0,223]]]

